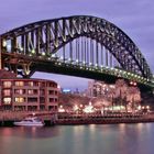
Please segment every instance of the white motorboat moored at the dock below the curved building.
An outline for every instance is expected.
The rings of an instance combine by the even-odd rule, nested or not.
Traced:
[[[13,124],[19,127],[43,127],[44,122],[37,117],[29,117],[22,121],[14,122]]]

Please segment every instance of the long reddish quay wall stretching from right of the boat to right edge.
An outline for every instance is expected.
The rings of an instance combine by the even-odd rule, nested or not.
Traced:
[[[56,124],[117,124],[154,122],[154,114],[61,114]]]

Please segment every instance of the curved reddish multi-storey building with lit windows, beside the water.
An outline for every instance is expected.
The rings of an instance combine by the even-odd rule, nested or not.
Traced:
[[[14,111],[57,110],[58,86],[53,80],[0,79],[0,109]]]

